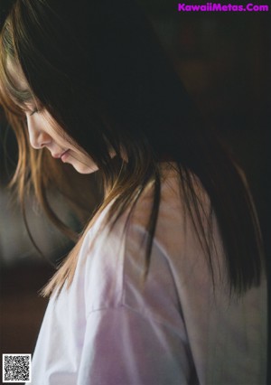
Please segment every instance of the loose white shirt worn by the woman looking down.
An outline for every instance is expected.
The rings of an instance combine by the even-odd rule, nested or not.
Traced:
[[[51,297],[44,316],[33,385],[265,384],[266,282],[229,298],[215,227],[213,290],[176,175],[168,172],[144,283],[140,245],[151,202],[145,192],[125,237],[126,215],[89,248],[107,209],[89,230],[70,289]]]

